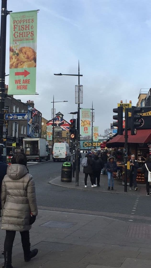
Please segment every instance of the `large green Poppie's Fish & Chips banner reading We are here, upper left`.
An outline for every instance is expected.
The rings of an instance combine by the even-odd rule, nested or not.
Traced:
[[[10,13],[9,95],[36,94],[37,10]]]

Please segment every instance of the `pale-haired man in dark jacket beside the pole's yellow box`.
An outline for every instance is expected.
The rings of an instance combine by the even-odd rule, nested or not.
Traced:
[[[137,177],[137,169],[139,168],[138,161],[135,160],[135,155],[131,155],[130,159],[130,190],[132,189],[132,185],[134,184],[134,190],[137,191],[137,182],[136,182],[136,177]]]

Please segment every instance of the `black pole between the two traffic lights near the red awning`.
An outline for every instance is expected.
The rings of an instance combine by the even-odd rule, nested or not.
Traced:
[[[127,192],[127,140],[128,140],[128,109],[125,109],[125,167],[124,167],[124,192]]]

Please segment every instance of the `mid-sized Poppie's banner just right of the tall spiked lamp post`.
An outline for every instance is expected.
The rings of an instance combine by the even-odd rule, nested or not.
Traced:
[[[91,134],[91,109],[81,109],[81,135]]]

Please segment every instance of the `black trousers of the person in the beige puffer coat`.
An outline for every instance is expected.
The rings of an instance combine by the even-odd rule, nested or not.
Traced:
[[[16,231],[6,230],[4,252],[6,251],[12,252],[15,235],[16,235]],[[30,250],[29,231],[20,232],[20,235],[21,235],[21,243],[22,243],[23,250],[24,252],[28,252]]]

